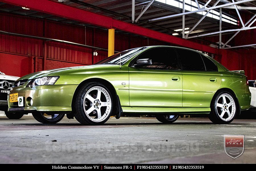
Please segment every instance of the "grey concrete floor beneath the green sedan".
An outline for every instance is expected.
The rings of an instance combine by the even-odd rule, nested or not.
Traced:
[[[245,136],[240,157],[226,155],[223,135]],[[11,120],[0,115],[0,163],[256,163],[255,142],[255,119],[213,125],[208,118],[179,118],[167,125],[154,118],[121,117],[83,126],[66,117],[45,125],[32,116]]]

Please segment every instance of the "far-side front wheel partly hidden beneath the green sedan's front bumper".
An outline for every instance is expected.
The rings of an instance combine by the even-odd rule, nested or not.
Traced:
[[[58,123],[65,116],[65,114],[53,114],[44,112],[34,112],[32,115],[38,122],[47,124]]]

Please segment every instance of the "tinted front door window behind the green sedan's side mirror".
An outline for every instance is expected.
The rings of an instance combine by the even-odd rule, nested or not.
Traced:
[[[169,56],[170,54],[170,56]],[[166,70],[177,70],[177,56],[174,48],[152,48],[141,54],[138,59],[151,59],[152,65],[139,66],[139,68],[157,68]],[[135,62],[136,64],[136,62]]]

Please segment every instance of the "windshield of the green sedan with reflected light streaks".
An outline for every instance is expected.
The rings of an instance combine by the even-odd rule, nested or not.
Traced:
[[[94,65],[97,65],[97,64],[118,64],[118,65],[120,65],[120,55],[121,55],[121,65],[123,65],[131,57],[133,57],[134,55],[138,54],[139,52],[141,52],[142,50],[144,50],[146,48],[147,47],[125,50],[123,52],[114,54],[104,60],[101,60],[101,61],[95,63]]]

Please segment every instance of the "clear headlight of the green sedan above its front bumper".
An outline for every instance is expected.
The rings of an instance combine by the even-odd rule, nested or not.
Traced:
[[[54,85],[59,76],[41,77],[31,80],[26,87]]]

